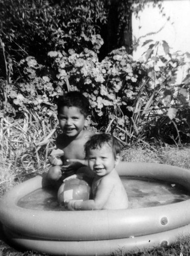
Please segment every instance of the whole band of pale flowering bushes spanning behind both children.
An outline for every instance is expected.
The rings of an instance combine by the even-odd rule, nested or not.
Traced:
[[[102,45],[96,35],[96,45]],[[88,97],[92,109],[92,126],[111,132],[126,143],[143,142],[162,137],[170,130],[170,141],[187,141],[189,119],[188,76],[176,85],[178,56],[160,57],[149,54],[146,62],[134,61],[124,47],[112,51],[102,61],[97,52],[87,48],[50,51],[49,61],[56,76],[41,75],[44,66],[32,56],[19,62],[23,81],[8,83],[5,110],[12,115],[32,108],[39,116],[56,116],[58,96],[68,90],[80,90]],[[183,111],[185,110],[185,111]],[[187,115],[188,116],[188,115]]]

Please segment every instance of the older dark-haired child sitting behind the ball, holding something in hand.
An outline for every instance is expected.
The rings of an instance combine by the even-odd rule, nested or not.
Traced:
[[[49,157],[51,166],[47,178],[61,185],[67,176],[80,171],[87,172],[84,145],[93,133],[86,130],[90,122],[89,101],[82,93],[68,92],[59,98],[57,105],[63,133],[56,139],[57,150]],[[75,159],[75,162],[69,163],[69,159]]]

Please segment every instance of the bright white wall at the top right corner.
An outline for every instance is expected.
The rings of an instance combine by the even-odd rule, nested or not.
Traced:
[[[142,58],[148,47],[142,47],[142,44],[148,39],[166,40],[171,52],[190,53],[190,0],[164,0],[162,6],[166,16],[162,16],[158,8],[153,8],[151,2],[140,13],[140,19],[132,16],[133,38],[139,39],[139,46],[133,51],[134,59]],[[188,57],[186,61],[190,63]],[[179,72],[179,83],[190,68],[189,63]]]

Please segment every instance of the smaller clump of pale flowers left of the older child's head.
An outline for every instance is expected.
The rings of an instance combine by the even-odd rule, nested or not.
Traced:
[[[6,113],[9,117],[15,117],[32,109],[48,119],[55,114],[56,106],[53,101],[63,93],[63,90],[52,83],[48,76],[37,75],[42,66],[34,57],[26,57],[18,65],[25,77],[22,78],[23,81],[3,84],[7,90],[8,102],[0,111],[0,115]]]

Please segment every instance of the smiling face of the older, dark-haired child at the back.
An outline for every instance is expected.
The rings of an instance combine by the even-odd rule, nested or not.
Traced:
[[[85,117],[75,106],[63,106],[58,114],[60,127],[68,137],[77,137],[88,125],[89,117]]]

